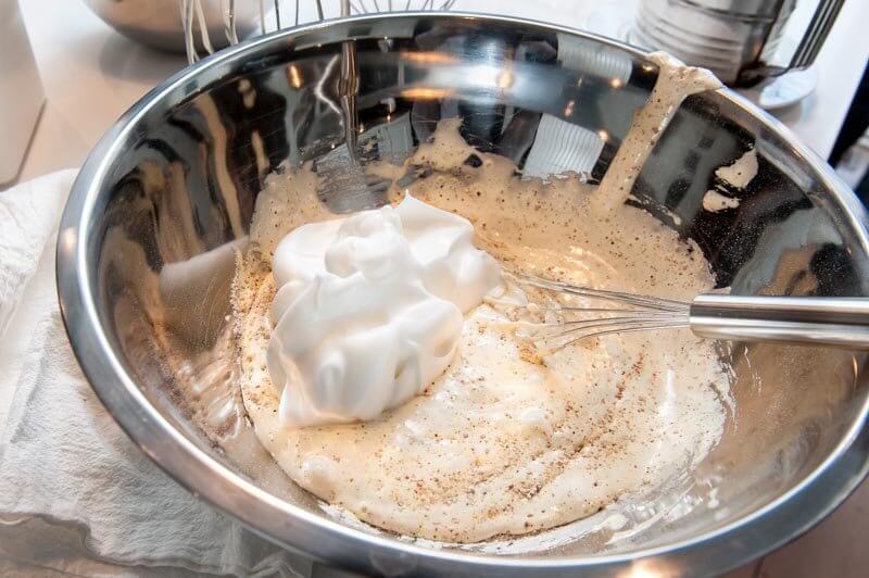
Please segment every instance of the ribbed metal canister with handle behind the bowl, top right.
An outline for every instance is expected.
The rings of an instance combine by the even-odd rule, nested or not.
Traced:
[[[818,1],[785,64],[774,64],[771,58],[796,0],[641,0],[631,40],[707,67],[729,85],[748,86],[809,66],[843,3]]]

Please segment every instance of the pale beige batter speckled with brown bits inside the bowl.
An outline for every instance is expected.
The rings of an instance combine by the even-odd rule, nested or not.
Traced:
[[[442,122],[408,161],[434,169],[411,192],[469,219],[477,247],[503,266],[675,299],[713,287],[693,243],[614,202],[612,190],[600,194],[572,178],[519,180],[508,161],[474,151],[457,128]],[[483,160],[478,168],[440,166],[471,152]],[[628,156],[631,165],[644,161]],[[628,168],[613,179],[629,189],[633,177]],[[247,411],[303,488],[398,533],[475,542],[566,524],[659,487],[720,438],[728,377],[710,342],[689,330],[608,336],[541,364],[526,361],[508,312],[489,305],[465,316],[453,364],[423,394],[367,422],[284,426],[266,367],[270,261],[290,230],[335,218],[316,199],[316,178],[306,168],[269,177],[234,294]],[[391,191],[393,204],[402,193]]]

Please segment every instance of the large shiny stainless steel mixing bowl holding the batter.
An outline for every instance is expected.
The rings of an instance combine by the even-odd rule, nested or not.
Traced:
[[[355,95],[340,65],[352,52],[348,39],[360,70]],[[189,388],[207,395],[215,384],[231,385],[219,348],[231,249],[243,246],[257,192],[279,163],[340,165],[336,155],[350,158],[345,135],[357,133],[365,146],[351,152],[362,162],[400,161],[439,118],[459,116],[467,140],[527,174],[570,169],[595,179],[656,74],[642,52],[617,42],[467,14],[328,22],[204,60],[128,111],[72,190],[58,285],[81,367],[142,451],[196,495],[333,566],[700,576],[792,540],[867,473],[862,352],[736,344],[735,410],[687,485],[646,504],[617,504],[620,525],[607,518],[521,554],[436,549],[342,524],[277,470],[243,419],[237,431],[209,431],[184,399]],[[759,173],[739,209],[703,211],[714,171],[751,147]],[[382,184],[343,183],[324,193],[336,212],[383,202]],[[862,208],[829,166],[729,90],[685,101],[634,196],[694,239],[733,292],[869,294]]]

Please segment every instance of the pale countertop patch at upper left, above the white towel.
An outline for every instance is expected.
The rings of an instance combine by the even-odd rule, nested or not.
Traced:
[[[20,5],[47,100],[18,180],[80,166],[124,111],[187,64],[127,40],[81,0]]]

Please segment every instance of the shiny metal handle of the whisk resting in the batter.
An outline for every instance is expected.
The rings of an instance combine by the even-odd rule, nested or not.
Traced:
[[[700,294],[689,310],[700,337],[869,349],[869,299]]]

